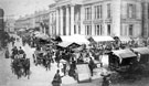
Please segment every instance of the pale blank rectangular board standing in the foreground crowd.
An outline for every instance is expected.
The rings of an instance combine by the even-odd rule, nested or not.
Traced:
[[[91,71],[88,64],[76,65],[78,82],[91,80]]]

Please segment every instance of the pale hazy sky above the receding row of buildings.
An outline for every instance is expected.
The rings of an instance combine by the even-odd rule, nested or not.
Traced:
[[[4,10],[4,15],[18,19],[20,15],[32,14],[34,11],[49,9],[49,4],[54,0],[0,0],[0,8]]]

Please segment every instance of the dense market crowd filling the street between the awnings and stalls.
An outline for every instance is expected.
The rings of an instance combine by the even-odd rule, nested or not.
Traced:
[[[12,42],[12,63],[19,62],[18,60],[24,58],[26,60],[26,55],[22,47],[17,49],[14,46],[14,42],[20,41],[19,39],[11,37],[10,42]],[[97,67],[96,61],[103,67],[102,57],[104,54],[111,50],[127,49],[127,47],[138,47],[138,46],[147,46],[148,42],[143,42],[139,44],[135,40],[121,43],[120,41],[114,42],[102,42],[102,43],[91,43],[89,46],[82,44],[79,47],[72,49],[71,46],[61,47],[57,45],[58,42],[45,41],[34,36],[25,37],[22,36],[23,45],[29,44],[31,47],[35,47],[33,60],[35,65],[43,65],[46,71],[51,71],[51,64],[57,63],[57,72],[53,78],[52,84],[55,80],[61,84],[62,76],[60,73],[63,73],[63,76],[70,75],[77,79],[76,74],[76,65],[87,63],[91,75],[94,76],[94,68]],[[17,61],[15,61],[17,60]],[[29,66],[28,66],[29,67]],[[25,72],[25,71],[24,71]],[[25,73],[26,74],[26,73]],[[106,77],[104,77],[104,82],[107,82]],[[57,85],[58,86],[58,85]],[[106,85],[103,85],[106,86]],[[108,85],[107,85],[108,86]]]

